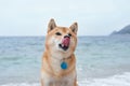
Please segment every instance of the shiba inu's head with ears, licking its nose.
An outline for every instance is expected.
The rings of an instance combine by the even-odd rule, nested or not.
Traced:
[[[54,19],[51,19],[48,25],[46,49],[51,53],[72,54],[77,45],[77,23],[67,28],[56,26]]]

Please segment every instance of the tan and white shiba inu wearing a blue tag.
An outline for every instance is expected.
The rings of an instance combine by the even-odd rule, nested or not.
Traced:
[[[78,24],[56,26],[50,19],[42,57],[41,86],[77,86],[75,49]]]

